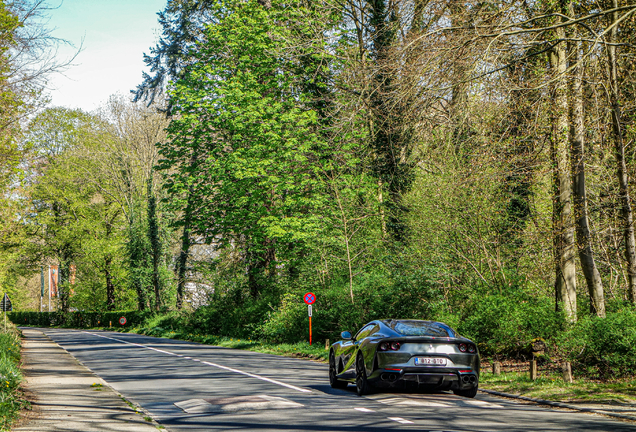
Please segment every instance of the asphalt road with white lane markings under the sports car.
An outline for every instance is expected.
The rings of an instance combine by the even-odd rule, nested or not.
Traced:
[[[478,394],[334,390],[327,365],[170,339],[43,329],[168,431],[635,431]]]

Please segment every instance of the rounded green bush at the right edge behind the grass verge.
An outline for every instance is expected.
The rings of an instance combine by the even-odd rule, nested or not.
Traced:
[[[606,318],[581,317],[559,338],[561,355],[579,373],[600,378],[636,374],[636,311],[624,309]]]

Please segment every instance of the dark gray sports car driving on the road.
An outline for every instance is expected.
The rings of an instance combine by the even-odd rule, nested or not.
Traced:
[[[477,345],[444,323],[377,320],[355,336],[342,332],[329,349],[329,383],[355,383],[362,396],[371,387],[413,386],[475,397],[479,385]]]

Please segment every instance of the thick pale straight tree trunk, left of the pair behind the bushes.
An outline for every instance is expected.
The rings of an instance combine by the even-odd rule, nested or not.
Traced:
[[[563,28],[556,30],[557,38],[563,40]],[[572,185],[568,166],[568,100],[565,44],[560,43],[550,53],[554,74],[552,112],[552,163],[554,172],[554,244],[555,244],[555,294],[557,310],[563,308],[569,321],[576,321],[576,265],[574,226],[572,224]]]

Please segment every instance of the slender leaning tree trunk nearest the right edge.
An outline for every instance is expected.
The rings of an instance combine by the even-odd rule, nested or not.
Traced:
[[[612,7],[618,7],[618,0],[612,1]],[[612,14],[612,21],[618,20],[618,12]],[[627,289],[629,301],[636,305],[636,242],[634,241],[634,216],[629,196],[629,179],[627,178],[627,164],[625,163],[625,142],[621,126],[622,113],[620,106],[620,88],[618,82],[618,59],[616,46],[618,28],[614,26],[610,32],[610,43],[607,46],[609,62],[609,96],[612,109],[612,132],[616,153],[616,176],[618,177],[619,195],[621,201],[621,218],[623,219],[623,237],[625,239],[625,259],[627,260],[627,275],[629,287]]]

